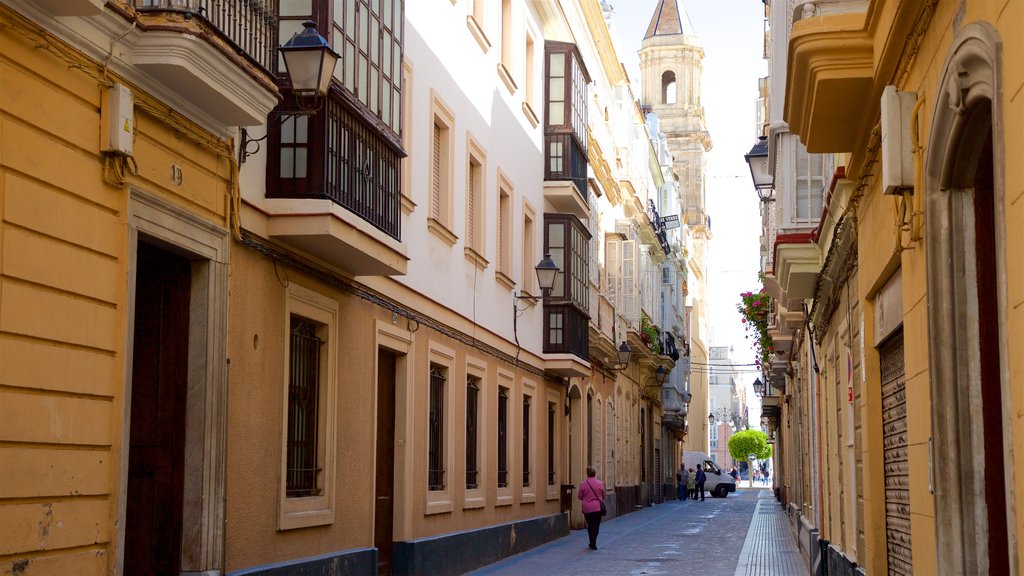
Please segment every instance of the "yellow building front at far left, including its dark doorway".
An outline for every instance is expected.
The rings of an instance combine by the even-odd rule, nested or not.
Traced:
[[[237,89],[255,108],[200,124],[99,40],[141,52],[163,43],[144,30],[182,37],[196,23],[125,3],[14,4],[0,6],[0,564],[164,568],[146,519],[167,505],[180,553],[166,568],[217,569],[237,182],[221,130],[228,115],[266,114],[275,90],[247,72]],[[204,46],[211,66],[241,68],[220,42]]]

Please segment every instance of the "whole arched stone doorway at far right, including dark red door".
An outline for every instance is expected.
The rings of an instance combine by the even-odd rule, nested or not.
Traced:
[[[935,526],[941,574],[1016,574],[1007,349],[1002,43],[953,39],[926,158]],[[993,329],[997,330],[993,334]],[[1010,465],[1005,465],[1006,463]]]

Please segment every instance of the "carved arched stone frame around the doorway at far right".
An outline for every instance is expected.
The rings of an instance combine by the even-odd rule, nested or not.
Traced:
[[[974,250],[973,170],[987,139],[978,122],[990,122],[995,209],[996,292],[999,331],[1007,334],[1006,150],[1002,116],[1002,43],[986,23],[972,23],[955,35],[946,57],[926,153],[926,250],[928,281],[929,369],[932,392],[935,527],[939,571],[942,574],[987,574],[988,510],[985,502],[986,462],[981,419],[999,417],[1011,422],[1009,406],[1002,413],[981,413],[977,287],[972,277]],[[978,112],[989,107],[989,114]],[[979,118],[979,115],[982,115]],[[965,160],[967,158],[967,160]],[[969,174],[967,172],[970,172]],[[968,249],[965,249],[968,247]],[[974,303],[972,303],[974,302]],[[973,311],[973,313],[972,313]],[[972,328],[973,326],[973,328]],[[1001,397],[1009,399],[1010,376],[1006,338],[999,341]],[[992,474],[1013,474],[1014,446],[1004,427],[1004,458]],[[1014,502],[1013,481],[1006,480],[1007,502]],[[1016,520],[1008,506],[1011,573],[1017,572]]]

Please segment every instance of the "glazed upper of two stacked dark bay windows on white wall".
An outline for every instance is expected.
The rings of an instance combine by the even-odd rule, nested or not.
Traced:
[[[571,180],[587,194],[587,84],[590,76],[574,44],[545,43],[547,118],[545,179]]]

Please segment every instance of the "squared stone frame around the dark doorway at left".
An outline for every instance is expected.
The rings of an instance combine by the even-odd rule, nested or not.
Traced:
[[[125,509],[136,254],[140,237],[191,261],[185,481],[181,573],[217,576],[224,567],[224,493],[227,481],[227,230],[138,189],[128,202],[128,294],[125,395],[118,486],[115,574],[124,570]]]

